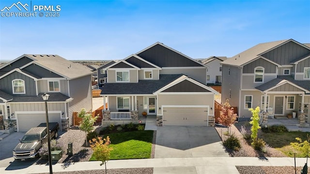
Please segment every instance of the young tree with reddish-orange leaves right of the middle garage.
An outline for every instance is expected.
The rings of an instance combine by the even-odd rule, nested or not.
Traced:
[[[232,124],[236,122],[237,114],[234,114],[233,107],[229,104],[229,100],[226,100],[220,111],[218,122],[230,128]]]

